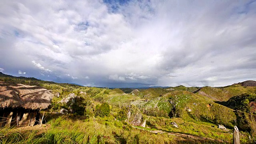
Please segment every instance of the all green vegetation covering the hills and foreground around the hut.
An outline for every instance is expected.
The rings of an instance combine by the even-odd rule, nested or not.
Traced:
[[[1,128],[2,144],[229,144],[235,125],[241,132],[241,143],[249,143],[249,136],[256,140],[256,87],[234,84],[111,90],[2,73],[0,80],[42,86],[54,94],[46,110],[46,124]],[[62,102],[66,98],[70,99]],[[62,108],[68,112],[59,114]]]

